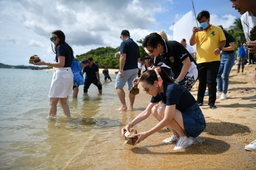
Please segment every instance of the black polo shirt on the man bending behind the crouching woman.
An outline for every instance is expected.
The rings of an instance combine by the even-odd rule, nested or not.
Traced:
[[[164,41],[164,40],[163,40]],[[197,66],[195,59],[191,56],[185,47],[177,41],[164,41],[164,52],[158,57],[155,57],[154,66],[159,66],[165,63],[171,67],[176,79],[181,72],[183,67],[182,61],[189,57],[191,62],[194,62]]]

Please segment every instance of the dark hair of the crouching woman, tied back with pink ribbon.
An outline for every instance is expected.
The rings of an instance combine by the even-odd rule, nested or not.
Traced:
[[[160,73],[158,72],[158,73],[163,79],[163,82],[174,83],[174,81],[170,79],[166,71],[164,71],[163,69],[160,69],[160,70],[161,72]],[[150,85],[154,84],[155,81],[158,81],[158,76],[156,75],[155,70],[147,70],[145,73],[142,74],[141,80],[140,80],[140,82],[146,82],[147,84],[150,84]]]

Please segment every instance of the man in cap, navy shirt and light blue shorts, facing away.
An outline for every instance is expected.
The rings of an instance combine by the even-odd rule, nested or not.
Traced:
[[[121,101],[121,107],[116,110],[126,111],[127,109],[133,110],[135,95],[130,94],[130,89],[133,87],[133,80],[138,74],[138,62],[141,61],[141,57],[139,55],[139,46],[133,39],[130,39],[129,31],[123,30],[120,39],[122,40],[120,45],[120,70],[115,79],[115,88],[117,89],[119,100]],[[126,82],[130,100],[128,108],[125,102],[125,91],[123,91]]]

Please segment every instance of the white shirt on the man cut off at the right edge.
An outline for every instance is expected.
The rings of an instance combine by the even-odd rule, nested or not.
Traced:
[[[243,25],[243,32],[245,32],[246,41],[251,41],[249,39],[250,31],[256,26],[256,16],[252,16],[251,12],[247,11],[241,16],[241,22]]]

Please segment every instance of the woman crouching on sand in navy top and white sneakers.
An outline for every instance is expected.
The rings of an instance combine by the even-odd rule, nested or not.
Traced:
[[[145,111],[134,118],[125,128],[122,128],[122,135],[152,113],[159,123],[146,132],[135,134],[138,136],[138,140],[134,145],[161,130],[164,126],[167,126],[173,135],[163,142],[177,141],[174,150],[193,145],[192,138],[202,133],[206,123],[204,115],[191,93],[183,86],[175,84],[167,73],[159,68],[143,73],[140,81],[143,91],[146,91],[152,98]],[[161,100],[163,104],[158,104]]]

